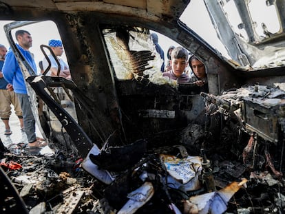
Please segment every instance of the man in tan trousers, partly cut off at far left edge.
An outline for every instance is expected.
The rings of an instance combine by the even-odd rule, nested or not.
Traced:
[[[23,116],[22,110],[19,103],[19,99],[13,91],[13,87],[10,83],[8,83],[5,78],[3,78],[3,74],[1,72],[2,67],[4,65],[5,57],[6,57],[7,49],[4,45],[0,44],[0,117],[5,125],[6,136],[12,134],[9,125],[9,118],[11,115],[11,104],[14,106],[15,114],[18,116],[20,120],[20,127],[23,130]]]

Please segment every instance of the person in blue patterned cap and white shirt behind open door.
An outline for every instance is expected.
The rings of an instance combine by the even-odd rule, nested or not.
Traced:
[[[65,77],[65,78],[71,78],[70,76],[70,68],[68,67],[67,63],[63,61],[61,56],[63,54],[63,43],[60,40],[52,39],[48,42],[48,45],[52,49],[52,52],[54,52],[54,55],[56,56],[57,60],[59,61],[59,64],[61,65],[61,69],[59,72],[59,76]],[[48,56],[50,58],[50,62],[52,65],[50,66],[50,71],[47,72],[47,76],[57,76],[57,72],[59,69],[59,66],[56,63],[55,58],[50,54]],[[43,70],[47,69],[48,62],[46,58],[43,58]]]

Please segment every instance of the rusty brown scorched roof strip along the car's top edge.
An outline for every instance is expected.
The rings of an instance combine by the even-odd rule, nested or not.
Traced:
[[[98,1],[40,1],[40,0],[3,0],[10,7],[15,14],[30,10],[31,18],[34,10],[43,8],[50,11],[101,11],[115,14],[125,14],[136,16],[137,14],[147,14],[148,17],[156,17],[161,19],[167,17],[168,19],[178,19],[184,9],[187,7],[190,0],[171,0],[171,1],[149,1],[149,0],[98,0]]]

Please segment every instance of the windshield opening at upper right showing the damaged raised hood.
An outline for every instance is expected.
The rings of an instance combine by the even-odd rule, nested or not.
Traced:
[[[199,4],[199,7],[203,7],[202,2]],[[204,18],[194,11],[197,6],[198,1],[191,1],[181,20],[217,48],[223,56],[248,70],[285,65],[282,1],[204,0],[204,8],[209,12]],[[204,9],[200,11],[204,14]],[[195,23],[197,17],[194,16],[197,15],[202,24]],[[209,19],[211,27],[208,26]],[[201,25],[209,30],[201,29]],[[215,37],[213,29],[221,42],[210,38]]]

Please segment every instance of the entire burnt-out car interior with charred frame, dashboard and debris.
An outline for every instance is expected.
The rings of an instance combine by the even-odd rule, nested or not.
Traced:
[[[201,1],[226,55],[180,20],[193,2],[0,0],[54,151],[0,140],[1,213],[284,213],[285,1]],[[15,45],[14,30],[47,20],[72,79],[38,74]],[[151,32],[204,63],[207,92],[162,76]]]

